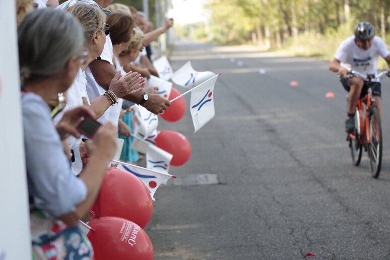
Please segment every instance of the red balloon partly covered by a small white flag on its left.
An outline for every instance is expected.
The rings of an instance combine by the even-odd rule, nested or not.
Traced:
[[[180,166],[186,163],[191,156],[191,144],[180,133],[175,131],[161,131],[155,139],[156,146],[173,155],[171,165]]]

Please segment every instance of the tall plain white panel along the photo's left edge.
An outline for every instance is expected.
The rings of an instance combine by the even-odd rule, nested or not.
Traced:
[[[0,259],[31,259],[15,1],[2,1],[0,24]]]

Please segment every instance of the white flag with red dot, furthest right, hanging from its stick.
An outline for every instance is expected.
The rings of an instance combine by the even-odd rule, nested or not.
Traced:
[[[195,132],[210,121],[214,115],[214,86],[219,75],[191,91],[190,111]]]

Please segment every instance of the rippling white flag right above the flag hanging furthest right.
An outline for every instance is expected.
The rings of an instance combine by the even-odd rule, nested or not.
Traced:
[[[177,85],[190,89],[209,80],[215,75],[214,72],[195,71],[191,66],[191,61],[188,61],[172,75],[171,80]]]

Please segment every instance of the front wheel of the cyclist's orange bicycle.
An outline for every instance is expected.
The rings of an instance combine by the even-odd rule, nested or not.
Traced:
[[[368,161],[372,177],[377,178],[382,165],[382,127],[376,107],[370,109],[369,125],[369,133],[367,133],[370,137],[370,142],[367,144]]]

